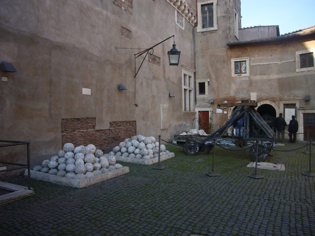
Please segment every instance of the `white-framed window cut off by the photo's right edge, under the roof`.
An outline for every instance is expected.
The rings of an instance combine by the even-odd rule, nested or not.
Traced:
[[[296,72],[315,70],[315,48],[295,52]]]

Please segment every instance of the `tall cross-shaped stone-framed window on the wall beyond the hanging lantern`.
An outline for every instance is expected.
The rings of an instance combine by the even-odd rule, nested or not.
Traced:
[[[183,112],[194,112],[194,70],[182,67]]]

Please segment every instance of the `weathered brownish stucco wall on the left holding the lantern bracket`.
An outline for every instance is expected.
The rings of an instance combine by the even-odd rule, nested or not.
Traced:
[[[121,27],[131,31],[131,41]],[[167,1],[134,0],[132,14],[113,1],[4,1],[0,61],[18,72],[0,71],[8,77],[0,81],[1,139],[30,141],[38,164],[61,149],[61,119],[96,117],[97,130],[136,121],[137,134],[164,139],[182,132],[192,121],[181,115],[181,67],[168,65],[173,39],[154,48],[160,66],[146,58],[136,88],[134,54],[140,50],[115,47],[149,48],[175,35],[180,64],[193,68],[192,29],[188,22],[185,30],[176,25]],[[119,83],[128,90],[118,90]],[[166,130],[160,130],[160,104],[169,105]],[[9,152],[5,158],[14,159]]]

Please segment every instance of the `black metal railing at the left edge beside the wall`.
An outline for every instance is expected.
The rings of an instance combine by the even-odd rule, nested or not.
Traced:
[[[14,167],[14,168],[10,168],[10,169],[0,170],[0,173],[6,172],[6,171],[13,171],[13,170],[18,170],[18,169],[27,168],[27,185],[28,185],[28,190],[31,190],[30,142],[0,140],[0,143],[7,143],[7,144],[0,144],[0,148],[26,144],[26,149],[27,149],[27,164],[20,164],[20,163],[14,163],[14,162],[0,161],[0,163],[2,163],[2,164],[8,164],[8,165],[13,165],[13,166],[18,166],[18,167]]]

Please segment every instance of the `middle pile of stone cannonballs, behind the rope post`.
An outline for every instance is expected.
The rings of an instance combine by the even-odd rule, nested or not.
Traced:
[[[126,138],[125,141],[114,147],[109,155],[124,156],[131,158],[151,159],[158,157],[158,146],[154,137],[145,137],[143,135]],[[165,145],[160,145],[160,156],[169,154]]]

